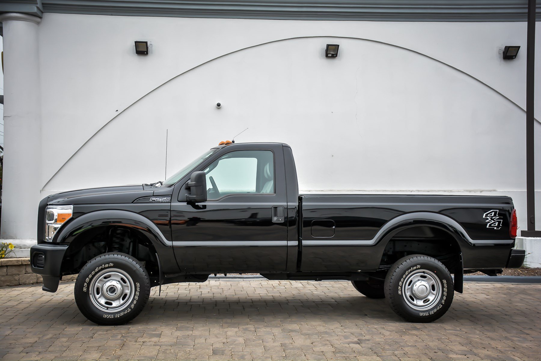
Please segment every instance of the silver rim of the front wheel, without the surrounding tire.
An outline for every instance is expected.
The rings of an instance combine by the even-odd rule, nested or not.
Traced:
[[[103,312],[122,310],[134,297],[134,282],[118,268],[97,273],[90,283],[90,300]]]

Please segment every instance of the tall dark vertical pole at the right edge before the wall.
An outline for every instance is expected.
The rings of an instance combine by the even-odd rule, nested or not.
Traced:
[[[535,200],[535,154],[533,137],[533,86],[536,50],[536,0],[528,0],[528,27],[526,42],[526,236],[538,236],[536,232]],[[541,232],[539,232],[541,234]]]

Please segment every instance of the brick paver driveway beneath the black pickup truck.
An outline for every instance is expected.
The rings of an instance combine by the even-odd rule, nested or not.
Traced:
[[[346,281],[212,280],[153,288],[128,325],[97,326],[73,283],[0,288],[0,357],[51,359],[541,359],[541,285],[466,284],[431,324],[400,320]]]

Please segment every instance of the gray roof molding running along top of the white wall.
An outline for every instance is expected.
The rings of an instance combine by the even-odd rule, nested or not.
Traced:
[[[537,0],[538,6],[541,0]],[[0,12],[368,21],[526,21],[526,0],[2,0]],[[537,12],[541,16],[541,10]],[[541,19],[541,17],[539,17]]]

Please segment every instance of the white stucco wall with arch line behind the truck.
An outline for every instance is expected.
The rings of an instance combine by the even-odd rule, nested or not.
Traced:
[[[38,42],[42,198],[163,180],[166,129],[170,175],[248,127],[292,146],[303,191],[511,195],[525,228],[525,23],[44,14]]]

